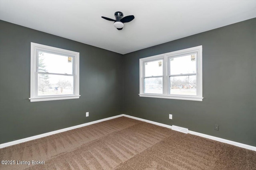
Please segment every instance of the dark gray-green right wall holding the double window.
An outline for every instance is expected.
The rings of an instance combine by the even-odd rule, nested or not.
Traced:
[[[256,146],[255,30],[254,18],[124,55],[124,113]],[[140,58],[198,45],[202,102],[138,96]]]

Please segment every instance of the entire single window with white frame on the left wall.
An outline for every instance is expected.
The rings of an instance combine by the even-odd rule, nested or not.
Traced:
[[[79,98],[79,53],[31,43],[30,102]]]

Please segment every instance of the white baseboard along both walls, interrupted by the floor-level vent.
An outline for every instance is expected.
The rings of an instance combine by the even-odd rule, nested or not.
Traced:
[[[122,117],[122,116],[129,117],[129,118],[132,118],[132,119],[136,119],[136,120],[140,120],[140,121],[144,121],[144,122],[151,123],[151,124],[154,124],[154,125],[158,125],[158,126],[167,127],[169,129],[172,129],[171,125],[166,125],[166,124],[163,124],[163,123],[158,123],[158,122],[155,122],[155,121],[150,121],[150,120],[147,120],[147,119],[142,119],[142,118],[139,118],[139,117],[134,117],[134,116],[126,115],[126,114],[120,114],[120,115],[108,117],[108,118],[105,118],[105,119],[100,119],[100,120],[84,123],[84,124],[81,124],[81,125],[67,127],[67,128],[64,128],[64,129],[57,130],[57,131],[43,133],[41,135],[36,135],[36,136],[27,137],[27,138],[24,138],[24,139],[19,139],[19,140],[16,140],[16,141],[8,142],[8,143],[3,143],[3,144],[0,144],[0,149],[4,148],[4,147],[9,147],[9,146],[12,146],[12,145],[16,145],[16,144],[19,144],[19,143],[23,143],[23,142],[26,142],[26,141],[31,141],[31,140],[34,140],[34,139],[39,139],[41,137],[46,137],[46,136],[54,135],[56,133],[61,133],[61,132],[64,132],[64,131],[69,131],[69,130],[76,129],[76,128],[79,128],[79,127],[84,127],[84,126],[92,125],[94,123],[99,123],[99,122],[102,122],[102,121],[107,121],[107,120],[110,120],[110,119],[115,119],[117,117]],[[206,134],[198,133],[198,132],[194,132],[194,131],[188,131],[188,133],[190,133],[192,135],[196,135],[196,136],[212,139],[214,141],[219,141],[219,142],[222,142],[222,143],[227,143],[227,144],[234,145],[234,146],[237,146],[237,147],[241,147],[241,148],[245,148],[245,149],[256,151],[256,147],[251,146],[251,145],[246,145],[246,144],[243,144],[243,143],[238,143],[238,142],[234,142],[234,141],[230,141],[230,140],[227,140],[227,139],[222,139],[222,138],[219,138],[219,137],[214,137],[214,136],[210,136],[210,135],[206,135]]]

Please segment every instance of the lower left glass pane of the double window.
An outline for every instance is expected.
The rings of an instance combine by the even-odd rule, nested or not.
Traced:
[[[144,78],[144,93],[163,94],[163,78]]]

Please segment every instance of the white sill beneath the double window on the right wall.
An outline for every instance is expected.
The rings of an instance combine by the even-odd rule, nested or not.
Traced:
[[[139,94],[139,96],[140,97],[147,97],[147,98],[163,98],[163,99],[203,101],[203,98],[198,97],[198,96],[167,96],[167,95],[159,95],[159,94]]]

